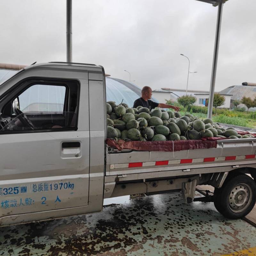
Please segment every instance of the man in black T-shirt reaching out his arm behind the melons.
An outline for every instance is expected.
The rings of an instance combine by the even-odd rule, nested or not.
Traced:
[[[152,89],[149,86],[144,86],[141,90],[141,97],[134,101],[133,108],[137,108],[138,106],[142,106],[145,108],[149,108],[150,110],[153,108],[172,108],[175,111],[180,111],[179,107],[164,104],[164,103],[156,103],[150,100],[152,97]]]

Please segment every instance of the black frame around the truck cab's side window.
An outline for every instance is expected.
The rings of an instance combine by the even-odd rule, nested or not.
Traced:
[[[0,104],[3,104],[0,112],[5,110],[5,108],[11,102],[15,100],[21,93],[25,92],[28,88],[35,84],[40,85],[57,85],[57,86],[65,86],[65,99],[64,99],[64,107],[63,112],[71,112],[67,111],[69,108],[69,102],[71,98],[70,87],[77,86],[77,99],[76,99],[76,123],[74,127],[63,127],[63,128],[52,128],[52,129],[38,129],[38,130],[15,130],[15,131],[0,131],[1,134],[13,134],[13,133],[34,133],[34,132],[60,132],[60,131],[77,131],[78,130],[78,113],[79,113],[79,101],[80,101],[80,82],[77,79],[62,79],[62,78],[48,78],[48,77],[27,77],[17,84],[13,85],[7,92],[2,95],[0,99]],[[22,90],[19,90],[20,87]],[[3,111],[4,112],[4,111]],[[75,113],[75,110],[74,110]],[[12,114],[12,111],[10,112]],[[25,114],[26,115],[26,114]],[[10,117],[13,117],[12,115]]]

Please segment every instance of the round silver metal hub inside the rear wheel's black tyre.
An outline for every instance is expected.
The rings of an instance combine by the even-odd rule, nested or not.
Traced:
[[[228,205],[232,212],[242,212],[252,200],[252,190],[246,184],[238,184],[232,188],[228,197]]]

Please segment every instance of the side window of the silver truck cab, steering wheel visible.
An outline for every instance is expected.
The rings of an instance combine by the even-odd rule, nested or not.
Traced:
[[[34,84],[29,86],[10,102],[12,113],[10,117],[5,118],[4,123],[1,120],[3,116],[0,116],[0,131],[75,128],[78,93],[74,91],[74,86],[70,99],[69,94],[71,93],[67,85]]]

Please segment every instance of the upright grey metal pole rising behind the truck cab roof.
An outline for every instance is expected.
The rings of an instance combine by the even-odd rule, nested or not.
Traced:
[[[67,0],[67,62],[72,62],[72,0]]]

